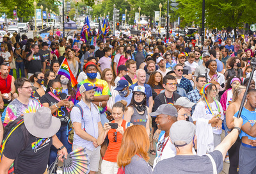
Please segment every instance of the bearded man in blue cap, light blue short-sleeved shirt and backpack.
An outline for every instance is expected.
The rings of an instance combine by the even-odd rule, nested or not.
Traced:
[[[83,83],[79,88],[82,99],[71,111],[71,120],[74,125],[73,150],[86,148],[90,159],[90,173],[99,169],[100,147],[97,138],[102,131],[98,107],[92,103],[95,89],[90,83]]]

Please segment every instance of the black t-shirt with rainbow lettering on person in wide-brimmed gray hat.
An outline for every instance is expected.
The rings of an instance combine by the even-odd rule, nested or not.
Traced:
[[[44,173],[49,159],[52,138],[36,138],[28,133],[29,138],[25,147],[25,137],[22,126],[11,134],[6,141],[3,154],[8,159],[15,159],[17,168],[14,169],[15,174],[24,173]],[[26,128],[25,128],[26,129]]]

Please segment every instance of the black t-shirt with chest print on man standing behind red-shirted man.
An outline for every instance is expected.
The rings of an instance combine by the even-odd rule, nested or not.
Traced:
[[[29,52],[27,58],[32,54]],[[28,61],[28,73],[34,74],[35,72],[40,72],[43,68],[42,63],[44,62],[44,57],[39,52],[33,55],[31,61]]]

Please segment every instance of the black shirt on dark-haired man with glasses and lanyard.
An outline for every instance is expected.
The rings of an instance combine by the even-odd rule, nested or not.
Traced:
[[[172,98],[164,98],[164,93],[160,93],[155,98],[155,105],[154,105],[154,111],[161,105],[161,104],[175,104],[176,100],[179,99],[181,96],[178,93],[173,92]]]

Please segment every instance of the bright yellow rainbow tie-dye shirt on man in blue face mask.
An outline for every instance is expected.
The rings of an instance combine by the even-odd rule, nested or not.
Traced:
[[[92,83],[92,82],[88,81],[88,79],[85,79],[84,81],[81,81],[81,83],[77,84],[76,99],[81,96],[79,88],[84,83],[90,83],[93,86],[97,86],[98,87],[97,89],[95,89],[94,96],[109,95],[109,97],[111,97],[111,92],[110,92],[110,90],[108,88],[108,83],[106,81],[97,79],[95,83]],[[107,107],[99,107],[98,106],[98,108],[99,108],[100,114],[102,114],[102,113],[107,111]]]

